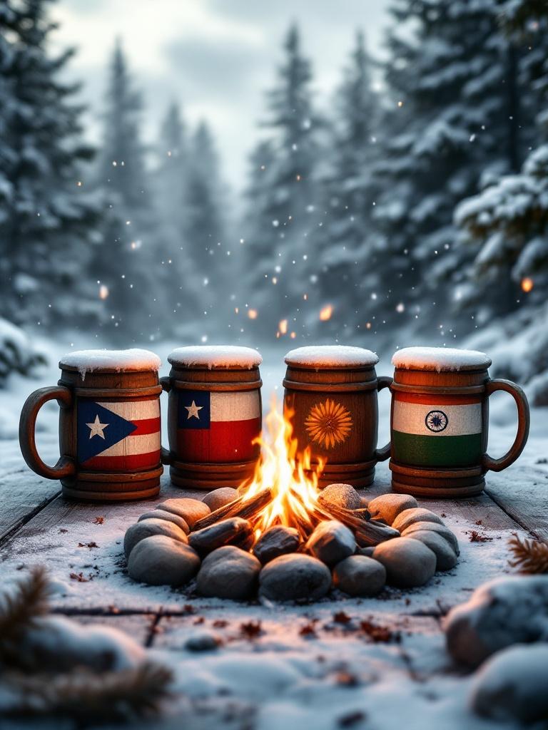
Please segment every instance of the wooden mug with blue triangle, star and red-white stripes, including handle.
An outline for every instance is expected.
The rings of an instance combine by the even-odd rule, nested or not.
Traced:
[[[160,359],[148,350],[82,350],[61,358],[61,378],[28,396],[21,412],[23,457],[41,477],[59,479],[63,496],[118,502],[160,489]],[[56,399],[59,458],[47,466],[35,442],[38,412]]]

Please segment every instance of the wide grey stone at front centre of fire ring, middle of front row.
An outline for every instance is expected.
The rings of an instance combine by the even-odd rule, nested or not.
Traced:
[[[294,553],[270,561],[259,574],[259,596],[270,601],[315,601],[331,587],[330,569],[309,555]]]

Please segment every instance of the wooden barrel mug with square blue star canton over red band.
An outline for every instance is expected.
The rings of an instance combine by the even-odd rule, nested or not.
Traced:
[[[172,483],[195,489],[237,488],[260,457],[262,358],[251,347],[178,347],[167,358],[167,413]]]

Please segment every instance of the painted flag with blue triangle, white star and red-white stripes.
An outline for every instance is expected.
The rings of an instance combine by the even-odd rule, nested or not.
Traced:
[[[127,472],[160,463],[160,401],[93,401],[77,406],[78,462],[86,469]]]

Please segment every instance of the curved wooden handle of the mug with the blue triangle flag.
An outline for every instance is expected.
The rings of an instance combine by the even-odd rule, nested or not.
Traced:
[[[33,472],[46,479],[66,479],[76,474],[75,462],[70,456],[61,456],[55,466],[47,466],[39,457],[36,445],[36,419],[40,408],[56,399],[60,408],[72,407],[72,391],[64,385],[39,388],[25,401],[19,420],[19,445],[21,453]]]

